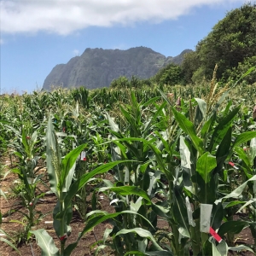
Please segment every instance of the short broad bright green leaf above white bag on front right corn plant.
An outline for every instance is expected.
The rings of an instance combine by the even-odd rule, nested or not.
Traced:
[[[217,166],[215,156],[206,152],[202,154],[196,163],[196,172],[199,172],[205,183],[208,183],[211,179],[210,173]]]

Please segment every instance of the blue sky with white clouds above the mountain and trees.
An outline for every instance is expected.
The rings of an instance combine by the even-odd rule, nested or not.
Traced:
[[[32,92],[86,48],[195,49],[241,0],[0,0],[1,93]]]

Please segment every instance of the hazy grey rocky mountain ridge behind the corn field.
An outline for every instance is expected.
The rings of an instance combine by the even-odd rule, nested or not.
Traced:
[[[108,87],[113,79],[137,76],[149,79],[170,62],[180,64],[185,49],[176,57],[166,57],[147,47],[131,49],[85,49],[80,56],[73,57],[67,64],[56,65],[44,80],[43,89],[55,86],[63,88],[85,86],[88,89]]]

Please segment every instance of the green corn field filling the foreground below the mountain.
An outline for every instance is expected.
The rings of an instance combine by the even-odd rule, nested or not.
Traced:
[[[36,239],[42,255],[73,255],[83,236],[108,222],[95,255],[256,253],[255,95],[253,86],[220,86],[213,76],[195,87],[1,96],[0,153],[15,163],[1,178],[14,172],[22,184],[26,241]],[[39,162],[47,172],[38,172]],[[58,244],[35,229],[42,183],[56,198]],[[114,212],[97,207],[102,194]],[[67,245],[73,209],[83,231]],[[159,219],[168,229],[158,230]],[[245,229],[254,242],[235,246]],[[9,230],[0,233],[19,253]]]

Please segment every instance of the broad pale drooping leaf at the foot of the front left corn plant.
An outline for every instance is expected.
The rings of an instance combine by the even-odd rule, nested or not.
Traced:
[[[53,238],[49,236],[46,230],[30,230],[34,234],[38,241],[38,246],[42,249],[42,255],[44,256],[58,256],[60,255],[59,249],[55,247]]]

